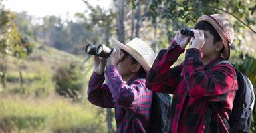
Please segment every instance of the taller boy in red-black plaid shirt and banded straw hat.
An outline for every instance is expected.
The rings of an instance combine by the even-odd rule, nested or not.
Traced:
[[[178,31],[170,47],[156,57],[146,86],[154,92],[174,94],[170,114],[172,132],[228,132],[225,123],[238,88],[235,69],[227,63],[207,68],[229,59],[233,26],[223,15],[203,15],[192,31],[195,37],[186,49],[184,61],[170,68],[190,41],[190,37]],[[218,111],[214,110],[207,122],[209,102],[217,102]]]

